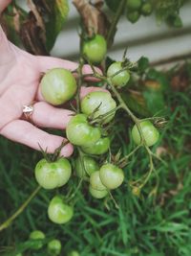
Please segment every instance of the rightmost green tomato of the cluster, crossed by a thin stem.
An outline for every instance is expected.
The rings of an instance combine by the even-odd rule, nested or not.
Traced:
[[[159,131],[150,121],[142,121],[139,123],[139,126],[142,131],[146,146],[151,147],[159,141]],[[137,125],[135,125],[132,129],[132,137],[134,142],[137,145],[140,145],[141,136],[139,134]]]

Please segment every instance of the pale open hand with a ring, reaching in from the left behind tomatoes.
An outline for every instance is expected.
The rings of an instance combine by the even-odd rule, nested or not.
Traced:
[[[10,3],[11,0],[1,0],[0,12]],[[75,70],[78,64],[60,58],[32,56],[11,44],[1,27],[0,57],[0,134],[34,150],[39,151],[40,145],[42,149],[53,152],[66,139],[42,128],[66,128],[73,112],[44,101],[39,91],[40,76],[55,67]],[[91,71],[90,66],[83,67],[84,74]],[[82,87],[81,97],[94,90],[94,87]],[[23,105],[30,105],[33,101],[29,122],[23,115]],[[61,155],[70,156],[73,150],[68,143]]]

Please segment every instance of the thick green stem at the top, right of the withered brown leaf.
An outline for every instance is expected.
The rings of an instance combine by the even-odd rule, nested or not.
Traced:
[[[124,5],[126,3],[126,0],[122,0],[118,6],[118,9],[117,9],[117,12],[116,12],[116,15],[114,16],[114,19],[112,21],[112,24],[110,26],[110,30],[108,31],[108,34],[107,34],[107,37],[106,37],[106,40],[107,40],[107,45],[110,47],[111,44],[112,44],[112,40],[114,39],[114,36],[117,32],[117,22],[121,16],[121,13],[123,12],[124,10]]]

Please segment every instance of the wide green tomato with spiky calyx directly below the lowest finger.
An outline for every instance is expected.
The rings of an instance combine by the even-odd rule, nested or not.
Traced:
[[[72,174],[72,167],[66,158],[59,158],[55,162],[41,159],[35,167],[35,178],[44,189],[54,189],[65,185]]]

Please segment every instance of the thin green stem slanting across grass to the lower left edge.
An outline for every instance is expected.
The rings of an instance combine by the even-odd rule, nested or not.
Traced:
[[[33,192],[32,195],[19,207],[19,209],[5,222],[3,222],[0,225],[0,231],[2,231],[3,229],[7,228],[11,222],[16,219],[24,210],[25,208],[28,206],[28,204],[31,202],[32,198],[34,198],[36,196],[36,194],[38,193],[38,191],[41,189],[40,186],[38,186]]]

